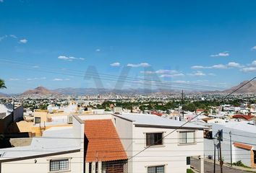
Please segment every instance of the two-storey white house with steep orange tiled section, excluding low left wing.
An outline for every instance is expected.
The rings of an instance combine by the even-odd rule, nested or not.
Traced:
[[[203,172],[202,126],[182,126],[183,123],[176,120],[131,113],[78,115],[77,118],[85,122],[85,137],[88,136],[88,141],[85,140],[85,172],[107,172],[111,168],[106,165],[115,163],[112,171],[184,173],[190,167],[191,156],[201,158]],[[92,128],[93,124],[98,128]],[[117,136],[111,136],[109,132]],[[90,146],[103,136],[105,143],[98,141],[101,144]],[[113,157],[115,159],[111,160]]]

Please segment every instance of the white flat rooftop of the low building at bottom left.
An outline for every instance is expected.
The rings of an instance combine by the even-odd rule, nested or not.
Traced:
[[[33,138],[30,146],[0,149],[0,160],[76,151],[80,150],[79,141],[74,138],[72,127],[50,128],[42,137]]]

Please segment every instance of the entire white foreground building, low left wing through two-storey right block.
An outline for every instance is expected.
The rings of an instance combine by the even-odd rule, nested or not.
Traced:
[[[200,158],[203,129],[144,114],[73,115],[30,146],[0,149],[1,173],[184,173]]]

